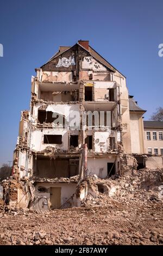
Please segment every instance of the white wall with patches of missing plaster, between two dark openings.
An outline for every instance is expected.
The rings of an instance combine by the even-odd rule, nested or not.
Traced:
[[[109,147],[109,132],[95,132],[95,152],[106,152]]]

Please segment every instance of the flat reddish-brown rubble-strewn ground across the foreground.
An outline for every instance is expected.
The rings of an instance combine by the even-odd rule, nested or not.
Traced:
[[[1,245],[159,245],[162,202],[1,214]]]

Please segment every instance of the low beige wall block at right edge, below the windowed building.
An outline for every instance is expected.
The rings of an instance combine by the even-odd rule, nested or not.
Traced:
[[[148,156],[146,158],[146,168],[163,168],[163,156]]]

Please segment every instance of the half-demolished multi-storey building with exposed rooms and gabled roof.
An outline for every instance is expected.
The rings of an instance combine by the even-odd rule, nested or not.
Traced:
[[[126,77],[89,41],[60,46],[35,71],[30,110],[21,113],[8,204],[80,206],[95,193],[88,176],[122,175],[137,162],[145,167],[145,111],[129,96]]]

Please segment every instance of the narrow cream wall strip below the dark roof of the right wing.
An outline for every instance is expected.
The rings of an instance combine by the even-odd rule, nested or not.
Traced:
[[[131,136],[131,153],[140,152],[139,137],[139,118],[136,114],[130,114],[130,136]]]

